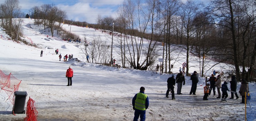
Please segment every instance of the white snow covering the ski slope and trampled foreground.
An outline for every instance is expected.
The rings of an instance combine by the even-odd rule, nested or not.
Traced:
[[[86,56],[77,47],[82,44],[67,43],[57,37],[47,38],[48,30],[45,32],[42,27],[33,24],[33,20],[24,19],[21,29],[23,36],[31,39],[38,48],[8,40],[8,36],[0,30],[0,69],[22,80],[19,91],[28,93],[26,102],[29,97],[35,100],[38,121],[131,121],[134,117],[132,97],[139,92],[141,86],[145,87],[145,94],[149,97],[147,121],[240,121],[245,118],[245,105],[240,104],[240,95],[239,99],[231,100],[228,92],[227,102],[221,102],[212,95],[209,101],[203,101],[203,77],[199,78],[196,95],[189,95],[192,83],[190,77],[185,76],[186,84],[181,91],[183,95],[175,94],[176,100],[171,100],[165,97],[166,80],[171,75],[86,63]],[[70,29],[68,25],[63,27]],[[101,35],[108,39],[110,36],[100,30],[76,26],[71,27],[71,32],[80,37],[84,34],[87,37]],[[46,47],[48,49],[45,52]],[[59,49],[62,57],[73,54],[74,58],[82,62],[75,59],[63,62],[63,58],[58,61],[58,55],[51,48]],[[43,57],[40,57],[41,50],[44,51]],[[74,70],[72,86],[66,86],[65,73],[68,66]],[[177,72],[179,67],[176,69],[174,71]],[[237,85],[237,92],[240,84]],[[250,93],[256,92],[254,85],[249,84]],[[175,92],[176,89],[175,85]],[[13,105],[7,98],[7,94],[1,90],[1,121],[23,120],[25,114],[11,114]]]

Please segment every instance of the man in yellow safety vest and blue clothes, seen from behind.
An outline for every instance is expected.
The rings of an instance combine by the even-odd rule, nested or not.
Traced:
[[[148,108],[149,101],[148,96],[144,92],[145,88],[141,86],[139,93],[135,94],[132,99],[132,106],[135,110],[133,121],[138,121],[139,117],[140,121],[145,121],[146,119],[146,109]]]

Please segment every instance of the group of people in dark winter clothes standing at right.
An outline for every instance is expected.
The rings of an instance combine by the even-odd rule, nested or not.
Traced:
[[[215,89],[217,88],[217,92],[218,92],[218,96],[217,99],[221,98],[221,101],[226,101],[227,102],[227,97],[228,97],[228,93],[227,91],[231,91],[231,97],[229,99],[239,99],[239,96],[236,92],[237,89],[237,79],[234,75],[231,76],[231,81],[230,81],[230,90],[227,86],[228,82],[224,81],[223,84],[222,83],[222,76],[218,75],[217,78],[214,76],[214,74],[211,75],[211,77],[209,78],[209,80],[207,80],[205,86],[203,87],[204,89],[204,96],[203,96],[203,100],[208,100],[208,96],[211,95],[211,92],[213,91],[213,96],[216,95],[216,91]],[[196,87],[197,87],[197,83],[198,83],[198,74],[196,71],[194,71],[194,73],[191,75],[190,77],[191,81],[192,81],[192,85],[191,85],[191,90],[190,90],[190,95],[196,95]],[[182,89],[182,85],[185,85],[185,77],[182,73],[182,71],[180,71],[179,74],[176,75],[176,78],[174,79],[174,75],[172,75],[172,77],[169,77],[167,79],[167,91],[166,91],[166,97],[168,98],[169,96],[169,92],[171,91],[172,93],[172,100],[175,100],[175,95],[174,95],[174,85],[175,85],[175,81],[177,83],[177,94],[182,94],[181,93],[181,89]],[[247,81],[245,81],[244,79],[241,80],[241,86],[240,86],[240,90],[239,93],[242,96],[242,102],[241,103],[245,103],[245,92],[249,92],[248,91],[248,83]],[[222,95],[221,95],[221,92]],[[236,98],[234,98],[234,95],[236,96]]]

